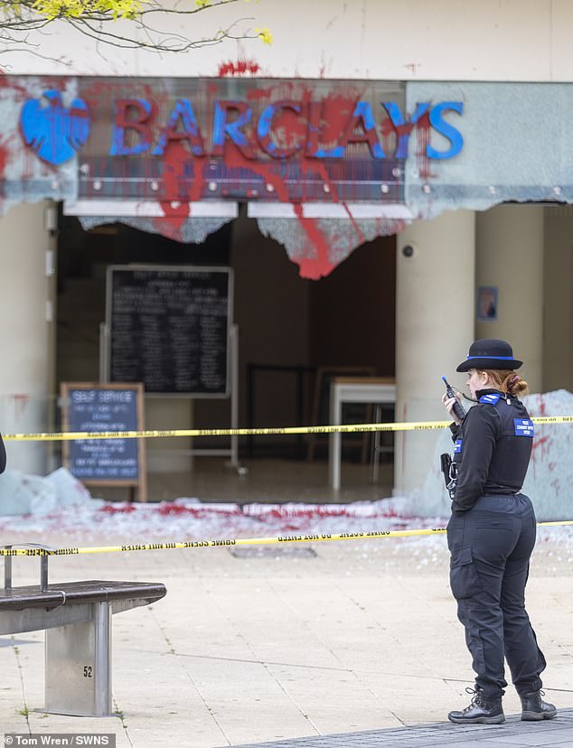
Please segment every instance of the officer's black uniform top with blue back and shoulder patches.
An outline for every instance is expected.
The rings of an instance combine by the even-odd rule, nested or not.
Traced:
[[[517,397],[496,389],[475,393],[478,402],[461,425],[452,424],[456,492],[452,511],[464,512],[483,494],[517,493],[531,457],[533,424]]]

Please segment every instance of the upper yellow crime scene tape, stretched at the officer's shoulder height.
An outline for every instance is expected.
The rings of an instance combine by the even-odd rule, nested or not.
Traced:
[[[573,416],[540,416],[534,424],[570,424]],[[426,431],[445,428],[451,421],[409,421],[395,424],[286,426],[285,428],[180,428],[161,431],[66,431],[52,434],[5,434],[9,442],[64,442],[81,439],[154,439],[163,436],[263,436],[277,434],[356,434],[366,431]]]

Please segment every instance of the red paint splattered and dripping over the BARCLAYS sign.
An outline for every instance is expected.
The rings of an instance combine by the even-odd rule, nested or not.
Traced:
[[[260,72],[258,63],[253,60],[241,59],[238,61],[222,62],[219,66],[220,77],[233,77],[240,75],[254,75]],[[193,89],[194,90],[194,89]],[[152,116],[152,135],[154,142],[158,135],[159,129],[164,126],[164,122],[170,113],[170,104],[173,98],[173,92],[167,91],[164,84],[158,83],[153,88],[147,84],[136,84],[136,88],[130,85],[126,93],[126,84],[122,82],[109,83],[109,81],[90,80],[87,85],[80,87],[82,98],[87,100],[89,95],[94,98],[103,98],[108,103],[109,115],[113,118],[114,100],[121,96],[128,95],[130,98],[146,98],[153,103]],[[209,133],[212,127],[211,117],[213,112],[213,100],[221,96],[221,85],[216,81],[205,81],[201,89],[196,91],[197,97],[201,100],[199,111],[206,114],[203,121],[203,132]],[[317,99],[317,94],[320,95]],[[362,234],[359,223],[354,220],[351,210],[349,210],[345,201],[353,201],[347,193],[344,193],[344,201],[336,189],[338,179],[346,179],[348,164],[330,164],[327,165],[322,159],[309,157],[305,154],[307,140],[307,122],[312,118],[316,130],[320,131],[320,147],[329,149],[338,145],[341,133],[348,125],[356,102],[366,95],[364,85],[347,85],[341,90],[330,89],[324,95],[324,89],[317,89],[316,85],[308,85],[299,81],[274,81],[268,87],[248,87],[245,91],[246,98],[252,102],[253,108],[264,108],[267,103],[277,100],[294,100],[301,106],[301,113],[297,115],[289,109],[283,109],[277,112],[273,122],[272,140],[279,148],[286,151],[295,150],[297,175],[303,185],[303,189],[293,191],[293,182],[288,181],[287,164],[278,162],[275,159],[269,159],[268,154],[260,148],[257,137],[257,117],[243,128],[245,136],[252,145],[255,152],[255,159],[245,158],[239,149],[226,140],[224,145],[224,156],[222,164],[217,159],[217,164],[221,164],[227,173],[228,180],[223,182],[219,194],[223,198],[232,199],[241,192],[240,182],[243,182],[247,174],[252,174],[260,178],[261,187],[253,187],[253,192],[249,199],[261,199],[278,201],[282,203],[291,203],[295,201],[332,201],[343,205],[348,219],[351,222],[352,229],[344,230],[339,236],[333,235],[332,224],[325,230],[325,225],[321,220],[309,219],[304,215],[304,210],[300,203],[296,205],[296,218],[303,232],[301,247],[297,247],[294,254],[294,260],[300,266],[300,274],[303,277],[319,278],[328,275],[333,268],[341,261],[343,253],[345,256],[352,252],[352,249],[358,244],[362,244],[366,239]],[[313,101],[313,98],[315,100]],[[314,115],[311,117],[311,102]],[[88,101],[88,103],[90,103]],[[101,104],[101,102],[100,102]],[[195,104],[193,104],[195,107]],[[382,136],[395,137],[396,131],[389,125],[389,118],[382,120],[378,127]],[[391,122],[390,122],[391,126]],[[386,129],[385,129],[386,128]],[[412,126],[404,126],[404,132],[409,133]],[[95,158],[102,153],[101,136],[104,131],[94,132],[90,138],[90,146],[97,150],[93,151]],[[398,133],[398,135],[400,132]],[[383,142],[383,141],[382,141]],[[209,150],[209,145],[206,144]],[[107,144],[104,145],[105,148]],[[311,149],[312,150],[312,149]],[[368,151],[368,145],[365,143],[349,143],[347,145],[347,154],[358,157]],[[211,169],[217,171],[217,164],[213,167],[209,158],[194,158],[183,143],[170,143],[164,154],[163,163],[159,162],[162,173],[155,172],[155,159],[144,157],[146,166],[149,165],[149,178],[156,178],[162,181],[162,192],[159,204],[161,205],[164,216],[154,219],[155,228],[165,236],[182,241],[182,231],[185,221],[191,215],[190,202],[204,199],[205,182],[211,179]],[[295,159],[293,159],[295,162]],[[102,167],[105,165],[105,159],[102,161]],[[338,167],[338,169],[337,169]],[[334,168],[334,171],[333,171]],[[154,173],[155,172],[155,173]],[[94,174],[95,176],[95,174]],[[127,176],[127,174],[126,174]],[[308,178],[309,177],[309,178]],[[215,178],[214,176],[212,178]],[[235,182],[236,180],[236,182]],[[121,180],[120,180],[121,182]],[[217,182],[215,178],[215,182]],[[262,188],[262,190],[261,190]],[[324,192],[323,192],[324,191]],[[159,196],[155,192],[154,198]],[[215,196],[213,194],[213,196]],[[149,199],[152,193],[146,195]],[[361,200],[360,190],[356,192],[356,200]],[[380,229],[384,232],[392,230],[401,230],[403,223],[399,221],[377,222]],[[333,259],[331,259],[333,257]]]

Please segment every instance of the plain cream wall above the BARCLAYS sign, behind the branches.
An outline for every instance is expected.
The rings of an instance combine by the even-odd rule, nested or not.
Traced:
[[[190,5],[193,5],[190,3]],[[118,51],[52,25],[42,57],[5,53],[11,74],[217,76],[222,62],[257,61],[273,77],[383,80],[539,80],[573,76],[570,0],[260,0],[162,18],[165,32],[194,39],[237,23],[268,27],[274,43],[221,42],[182,55]],[[122,23],[113,27],[122,33]],[[128,28],[127,26],[125,27]],[[61,50],[65,50],[62,55]]]

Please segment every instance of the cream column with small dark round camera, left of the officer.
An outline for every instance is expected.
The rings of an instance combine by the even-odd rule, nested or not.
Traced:
[[[456,365],[474,340],[474,212],[413,221],[398,237],[397,421],[445,420],[442,375],[461,388]],[[394,492],[423,485],[439,431],[398,432]]]

